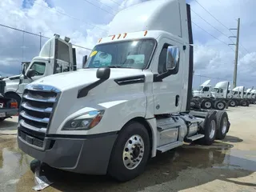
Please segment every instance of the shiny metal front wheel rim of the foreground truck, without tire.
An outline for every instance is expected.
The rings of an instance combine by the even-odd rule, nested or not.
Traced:
[[[127,169],[135,169],[142,161],[144,142],[141,136],[133,135],[128,139],[122,153],[122,162]]]

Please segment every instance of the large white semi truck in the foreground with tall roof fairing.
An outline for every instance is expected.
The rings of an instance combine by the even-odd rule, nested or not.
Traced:
[[[109,33],[85,69],[26,86],[21,150],[58,169],[125,182],[157,151],[225,138],[226,111],[190,110],[193,38],[185,0],[131,6],[114,17]]]

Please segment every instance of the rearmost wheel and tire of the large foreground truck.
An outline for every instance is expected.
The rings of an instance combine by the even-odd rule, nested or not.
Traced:
[[[222,140],[226,137],[226,133],[230,128],[229,122],[228,122],[229,119],[226,114],[226,111],[218,111],[216,114],[216,118],[217,118],[217,126],[218,126],[216,138],[219,140]]]

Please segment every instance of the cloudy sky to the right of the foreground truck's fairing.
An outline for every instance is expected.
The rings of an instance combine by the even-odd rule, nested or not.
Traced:
[[[199,14],[206,21],[210,22],[212,26],[220,30],[214,30],[212,26],[207,24],[199,18],[197,14],[192,11],[192,21],[202,29],[207,30],[210,34],[220,39],[226,44],[235,42],[235,38],[231,38],[233,42],[226,36],[236,35],[236,30],[232,30],[232,33],[228,30],[229,28],[237,27],[237,19],[241,18],[241,28],[240,28],[240,54],[238,58],[238,82],[239,86],[254,86],[254,79],[256,78],[256,73],[251,73],[251,71],[256,71],[256,45],[252,39],[254,39],[254,32],[256,30],[256,17],[254,7],[256,6],[256,1],[246,0],[225,0],[225,1],[205,1],[197,0],[210,14],[218,18],[216,21],[209,13],[206,12],[199,6],[197,2],[192,1],[191,8]],[[217,39],[206,34],[198,26],[193,25],[194,33],[194,70],[195,74],[202,74],[205,76],[215,77],[213,82],[217,82],[217,79],[226,79],[233,81],[234,73],[234,46],[226,46],[224,43],[219,42]],[[225,34],[225,35],[224,35]],[[246,47],[246,50],[243,47]],[[194,81],[196,86],[200,82],[206,81],[208,78],[201,78],[201,81],[197,77]],[[212,84],[214,84],[212,83]],[[232,82],[230,82],[232,84]]]

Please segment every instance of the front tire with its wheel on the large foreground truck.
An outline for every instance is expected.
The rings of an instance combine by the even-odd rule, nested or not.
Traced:
[[[130,122],[122,128],[110,157],[108,174],[127,182],[145,170],[150,155],[150,136],[139,122]]]

